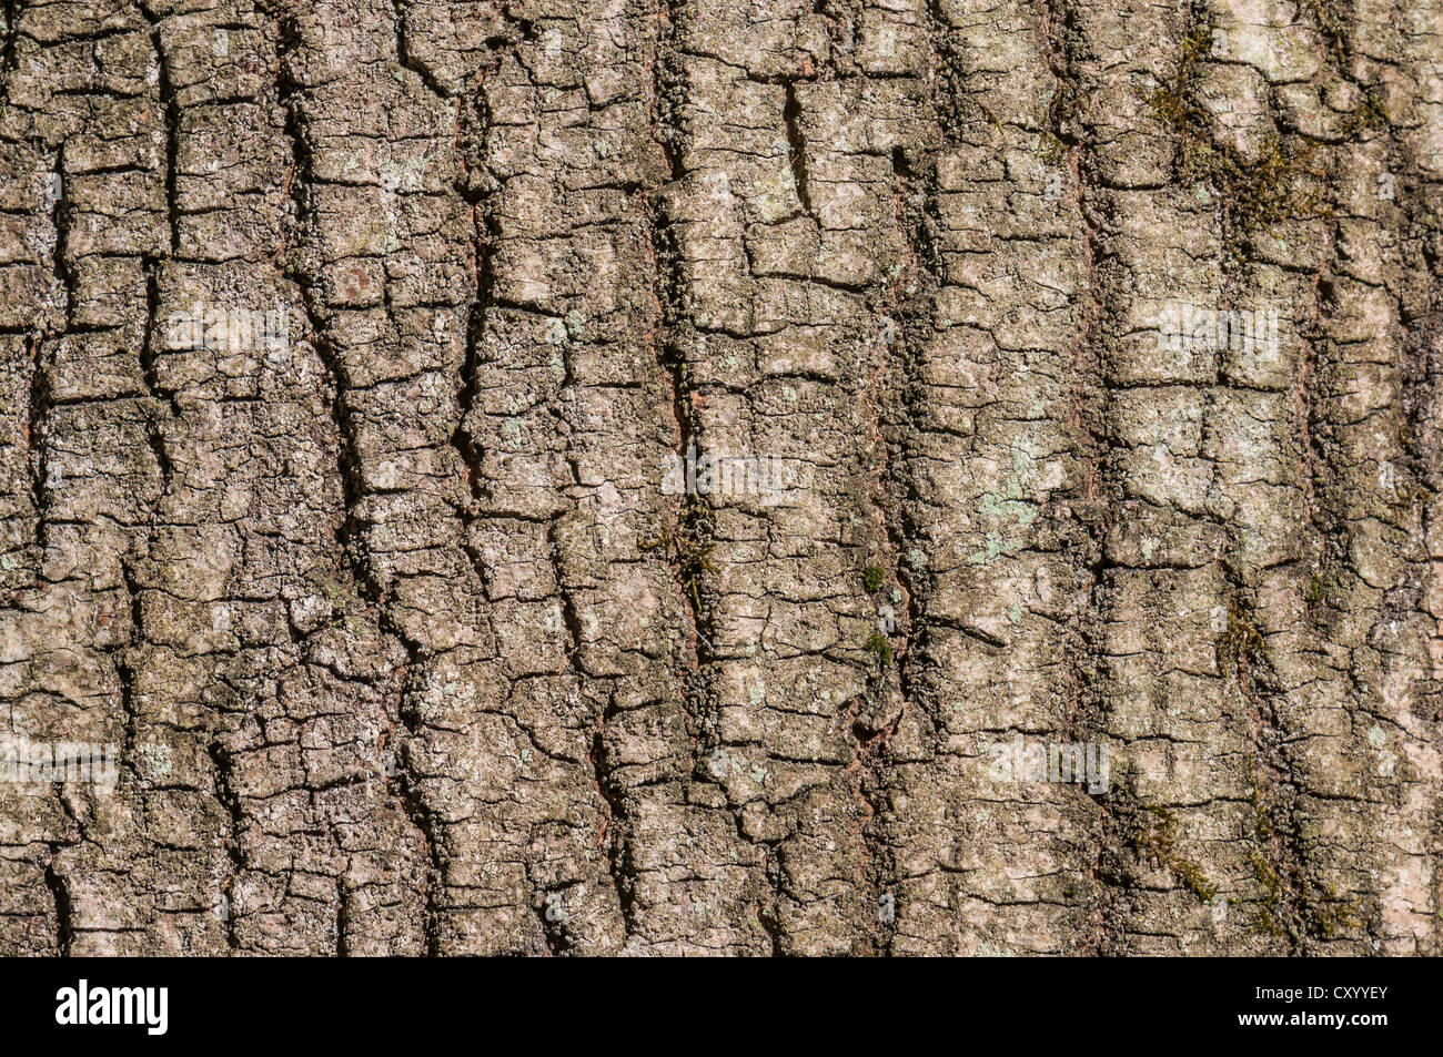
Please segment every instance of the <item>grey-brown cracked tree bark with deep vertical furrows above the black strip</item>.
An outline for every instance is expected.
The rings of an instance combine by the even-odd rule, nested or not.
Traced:
[[[0,84],[0,734],[120,767],[0,784],[0,953],[1443,953],[1440,0],[6,0]]]

